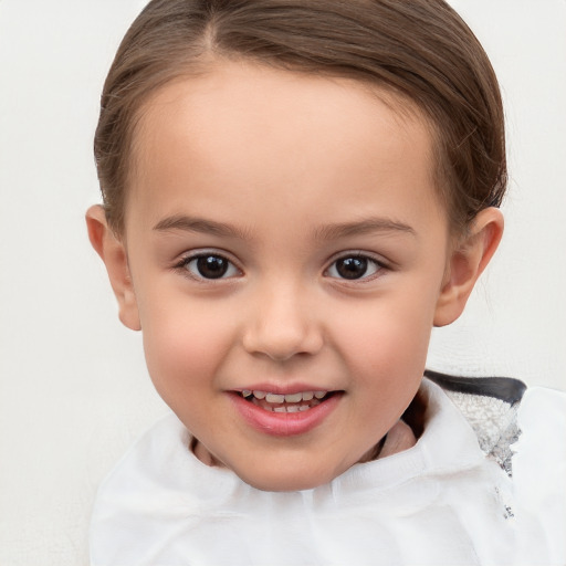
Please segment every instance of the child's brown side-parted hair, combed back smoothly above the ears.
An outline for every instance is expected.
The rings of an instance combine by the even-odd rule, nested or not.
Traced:
[[[124,229],[134,130],[166,83],[211,57],[352,77],[410,99],[432,125],[436,180],[452,226],[500,206],[506,187],[497,81],[443,0],[153,0],[118,49],[94,150],[106,216]]]

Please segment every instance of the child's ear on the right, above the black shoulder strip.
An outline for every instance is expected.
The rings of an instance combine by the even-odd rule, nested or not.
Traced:
[[[470,233],[460,241],[447,264],[447,274],[434,313],[434,326],[453,323],[463,312],[478,277],[492,259],[503,235],[503,214],[486,208],[476,217]]]

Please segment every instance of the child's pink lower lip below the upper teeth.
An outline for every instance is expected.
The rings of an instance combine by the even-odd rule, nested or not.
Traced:
[[[273,437],[294,437],[321,424],[336,409],[342,395],[336,392],[303,412],[271,412],[244,400],[239,394],[232,392],[230,397],[243,419],[254,429]]]

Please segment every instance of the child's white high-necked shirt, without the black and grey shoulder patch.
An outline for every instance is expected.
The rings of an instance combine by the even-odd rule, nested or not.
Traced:
[[[417,444],[329,484],[263,492],[201,463],[174,416],[101,486],[93,566],[566,564],[566,395],[527,390],[513,480],[423,380]]]

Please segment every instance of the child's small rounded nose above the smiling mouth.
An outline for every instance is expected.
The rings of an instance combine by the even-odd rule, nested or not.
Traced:
[[[266,285],[255,294],[243,333],[244,349],[275,361],[316,354],[323,332],[313,300],[300,285]]]

